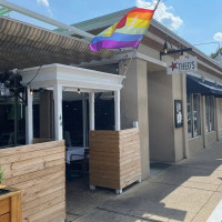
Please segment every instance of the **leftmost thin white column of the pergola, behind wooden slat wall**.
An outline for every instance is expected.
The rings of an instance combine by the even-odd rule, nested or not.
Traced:
[[[26,134],[27,134],[27,144],[32,144],[33,142],[33,95],[30,94],[30,87],[27,88],[27,125],[26,125]]]

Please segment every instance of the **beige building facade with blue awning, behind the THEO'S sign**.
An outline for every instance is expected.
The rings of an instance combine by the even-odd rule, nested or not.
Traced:
[[[127,11],[80,22],[74,27],[97,34],[120,20]],[[167,62],[180,57],[173,54],[160,59],[167,39],[173,49],[192,48],[184,56],[198,58],[196,72],[167,73]],[[220,140],[220,63],[153,20],[137,52],[124,50],[109,61],[82,64],[95,70],[109,70],[114,65],[119,74],[125,74],[121,90],[121,127],[130,128],[134,121],[139,121],[143,179],[150,174],[150,161],[178,162]],[[175,100],[182,101],[182,128],[175,128]]]

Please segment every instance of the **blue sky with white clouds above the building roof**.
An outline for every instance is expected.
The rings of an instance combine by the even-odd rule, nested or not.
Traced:
[[[64,23],[75,23],[134,6],[149,7],[142,0],[9,0]],[[155,1],[155,0],[150,0]],[[163,0],[155,19],[192,44],[219,41],[222,43],[221,0]],[[14,12],[11,18],[42,24]],[[203,52],[214,52],[218,44],[199,47]]]

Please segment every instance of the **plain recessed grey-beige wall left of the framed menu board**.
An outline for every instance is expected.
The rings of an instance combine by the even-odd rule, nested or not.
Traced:
[[[172,75],[148,72],[150,158],[175,161]]]

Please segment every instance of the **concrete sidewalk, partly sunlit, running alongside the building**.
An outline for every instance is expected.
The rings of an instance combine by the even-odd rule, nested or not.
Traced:
[[[205,222],[221,200],[222,142],[216,142],[123,194],[113,194],[74,222]]]

